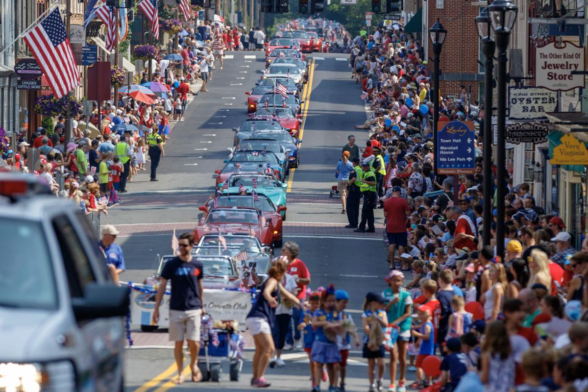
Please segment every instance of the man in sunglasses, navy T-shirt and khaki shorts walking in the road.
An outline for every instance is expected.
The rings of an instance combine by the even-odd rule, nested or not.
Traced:
[[[173,355],[178,367],[177,384],[183,379],[183,341],[188,340],[190,350],[190,370],[192,381],[202,380],[202,373],[196,364],[200,350],[200,324],[202,309],[202,263],[192,257],[194,236],[184,233],[178,239],[179,256],[169,260],[163,267],[159,288],[155,296],[153,323],[159,321],[159,306],[165,293],[168,280],[172,281],[172,294],[169,301],[169,340],[175,342]]]

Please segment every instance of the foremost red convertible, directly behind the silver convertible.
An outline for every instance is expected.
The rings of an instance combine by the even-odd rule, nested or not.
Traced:
[[[211,233],[240,233],[257,237],[262,246],[273,248],[273,224],[262,212],[251,207],[213,208],[206,219],[194,229],[198,242],[202,236]]]

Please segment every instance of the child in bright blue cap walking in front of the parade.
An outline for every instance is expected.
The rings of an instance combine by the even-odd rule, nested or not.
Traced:
[[[339,362],[339,390],[345,391],[345,375],[349,350],[351,349],[351,337],[353,336],[355,346],[359,348],[359,336],[356,331],[355,323],[353,323],[351,313],[345,310],[349,302],[349,293],[345,290],[337,290],[335,292],[335,300],[336,304],[335,311],[333,312],[333,319],[342,321],[343,323],[343,334],[337,335],[337,344],[339,346],[339,352],[341,353],[341,361]]]

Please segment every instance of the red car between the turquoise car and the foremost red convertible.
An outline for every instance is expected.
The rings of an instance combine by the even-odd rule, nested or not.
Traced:
[[[254,176],[243,175],[239,179],[250,180]],[[280,212],[286,210],[286,206],[276,206],[268,196],[263,193],[258,193],[257,200],[252,196],[239,195],[238,193],[223,193],[216,197],[217,208],[219,207],[250,207],[261,211],[266,220],[272,222],[273,226],[273,244],[276,247],[282,247],[282,215]],[[213,209],[215,202],[213,199],[208,200],[205,205],[198,207],[203,212],[203,217],[206,219],[208,212]]]

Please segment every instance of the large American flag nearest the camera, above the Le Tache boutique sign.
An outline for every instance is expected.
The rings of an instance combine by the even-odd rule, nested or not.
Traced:
[[[56,98],[62,98],[79,85],[78,65],[59,8],[49,12],[23,39],[41,66]]]

